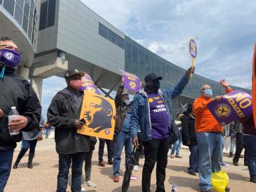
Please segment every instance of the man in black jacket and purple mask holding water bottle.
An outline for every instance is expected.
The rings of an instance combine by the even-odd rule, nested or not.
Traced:
[[[15,75],[20,52],[8,37],[0,39],[0,191],[5,188],[11,172],[11,162],[16,142],[21,141],[22,131],[39,127],[41,105],[31,85]],[[16,107],[19,117],[8,122],[11,107]],[[19,132],[10,135],[9,129]]]

